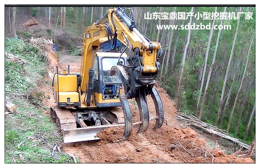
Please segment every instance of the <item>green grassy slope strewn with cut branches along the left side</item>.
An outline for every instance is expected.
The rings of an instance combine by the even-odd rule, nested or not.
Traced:
[[[24,66],[5,62],[5,92],[28,94],[16,97],[6,93],[6,100],[19,106],[5,119],[5,163],[72,163],[67,154],[58,152],[51,156],[53,146],[60,145],[62,137],[56,124],[43,112],[49,110],[41,106],[44,93],[37,91],[47,72],[46,56],[38,48],[14,38],[5,39],[5,51],[25,61]]]

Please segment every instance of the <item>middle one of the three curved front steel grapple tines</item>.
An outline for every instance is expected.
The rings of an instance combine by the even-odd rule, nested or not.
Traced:
[[[145,89],[140,88],[138,91],[136,91],[135,100],[139,109],[140,121],[142,121],[137,133],[141,133],[141,132],[145,132],[149,126],[149,111],[146,102]]]

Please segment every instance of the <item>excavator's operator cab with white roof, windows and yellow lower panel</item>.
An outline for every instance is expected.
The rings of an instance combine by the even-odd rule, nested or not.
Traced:
[[[94,62],[94,96],[97,107],[119,107],[119,96],[123,92],[123,83],[118,75],[110,76],[111,68],[118,63],[120,53],[96,52]],[[127,55],[124,53],[120,61],[126,64]]]

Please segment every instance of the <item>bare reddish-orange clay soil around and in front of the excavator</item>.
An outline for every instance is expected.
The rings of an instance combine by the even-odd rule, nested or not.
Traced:
[[[49,56],[50,65],[57,64],[57,56]],[[80,67],[80,62],[70,62],[70,66]],[[51,97],[44,103],[53,105],[51,86],[42,89]],[[164,124],[160,129],[152,130],[155,121],[151,121],[146,132],[136,134],[137,126],[133,128],[130,137],[122,140],[123,127],[108,128],[98,134],[101,140],[63,144],[63,151],[74,154],[81,163],[254,163],[251,158],[237,158],[233,154],[225,154],[221,149],[209,149],[205,139],[198,137],[197,132],[191,128],[178,127],[175,103],[162,88],[157,90],[165,112]],[[155,116],[150,96],[147,96],[147,103],[150,117]],[[138,121],[139,112],[135,101],[129,100],[129,104],[133,120]]]

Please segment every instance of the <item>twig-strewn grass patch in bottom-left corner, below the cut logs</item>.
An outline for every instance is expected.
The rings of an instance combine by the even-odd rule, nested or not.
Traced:
[[[30,103],[19,105],[5,120],[5,163],[22,163],[19,154],[25,163],[73,163],[67,154],[57,152],[51,156],[53,145],[62,141],[54,125]]]

